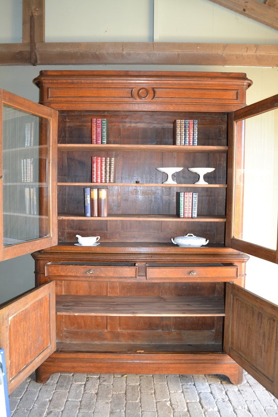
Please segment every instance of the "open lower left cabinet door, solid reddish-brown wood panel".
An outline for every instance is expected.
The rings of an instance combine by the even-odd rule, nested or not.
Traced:
[[[9,394],[56,349],[55,281],[0,309],[0,348],[5,351]]]

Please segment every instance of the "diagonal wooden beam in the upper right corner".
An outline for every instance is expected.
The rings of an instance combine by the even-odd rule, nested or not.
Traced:
[[[209,0],[278,30],[278,9],[258,0]]]

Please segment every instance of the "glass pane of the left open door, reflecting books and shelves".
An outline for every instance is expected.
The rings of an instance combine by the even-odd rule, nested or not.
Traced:
[[[49,235],[49,120],[3,105],[4,247]]]

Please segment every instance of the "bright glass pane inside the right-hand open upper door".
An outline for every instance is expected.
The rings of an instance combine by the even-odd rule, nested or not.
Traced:
[[[241,131],[243,122],[237,123]],[[243,159],[236,171],[234,237],[277,249],[278,227],[278,110],[245,120]],[[239,213],[241,211],[241,214]],[[242,224],[239,217],[242,216]]]

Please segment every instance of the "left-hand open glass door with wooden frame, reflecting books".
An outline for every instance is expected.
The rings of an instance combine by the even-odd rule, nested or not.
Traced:
[[[1,90],[1,260],[57,243],[57,112]]]

